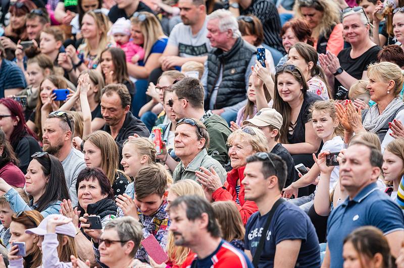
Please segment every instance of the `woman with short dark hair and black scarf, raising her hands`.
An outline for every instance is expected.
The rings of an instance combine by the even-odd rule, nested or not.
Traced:
[[[73,209],[70,200],[63,200],[61,214],[72,219],[76,227],[77,254],[81,259],[95,263],[91,239],[98,240],[103,230],[93,230],[86,216],[99,216],[103,228],[115,218],[118,207],[114,202],[114,191],[105,172],[100,168],[85,168],[76,182],[79,205]],[[80,222],[80,225],[79,225]]]

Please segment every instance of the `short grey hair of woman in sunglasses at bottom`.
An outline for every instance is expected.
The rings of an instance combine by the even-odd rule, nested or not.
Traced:
[[[116,218],[111,220],[106,226],[105,230],[114,229],[117,231],[119,240],[121,241],[133,241],[135,246],[130,252],[130,256],[134,257],[137,249],[140,246],[140,241],[143,239],[143,226],[130,216],[123,218]],[[122,243],[123,244],[123,243]]]

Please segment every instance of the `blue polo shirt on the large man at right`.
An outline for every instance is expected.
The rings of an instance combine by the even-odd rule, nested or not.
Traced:
[[[404,230],[404,216],[390,197],[380,191],[376,183],[363,188],[352,200],[334,209],[327,223],[327,241],[331,256],[330,267],[342,267],[343,240],[361,226],[379,228],[384,235]]]

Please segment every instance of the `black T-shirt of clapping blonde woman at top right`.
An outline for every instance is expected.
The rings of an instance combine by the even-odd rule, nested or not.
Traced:
[[[355,79],[362,79],[363,72],[368,70],[368,65],[377,62],[377,53],[381,50],[380,46],[375,45],[368,49],[365,53],[357,58],[351,58],[349,53],[351,47],[344,48],[338,53],[339,64],[341,68]],[[338,87],[341,86],[338,79],[334,79],[334,89],[337,92]]]

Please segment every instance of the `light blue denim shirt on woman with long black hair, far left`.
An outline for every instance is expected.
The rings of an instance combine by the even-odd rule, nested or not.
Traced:
[[[18,192],[14,188],[11,188],[6,193],[6,199],[7,202],[10,204],[10,208],[16,213],[20,211],[35,210],[37,208],[35,204],[28,206],[25,203],[24,199],[18,194]],[[46,216],[51,214],[59,214],[60,204],[62,204],[61,201],[50,203],[47,206],[47,208],[41,212],[43,218],[46,218]]]

